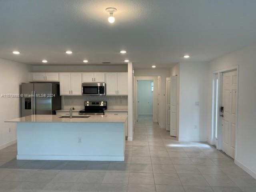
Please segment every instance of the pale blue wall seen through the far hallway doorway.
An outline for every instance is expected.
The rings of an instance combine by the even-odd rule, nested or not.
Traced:
[[[138,80],[138,114],[153,115],[153,92],[151,92],[151,80]]]

